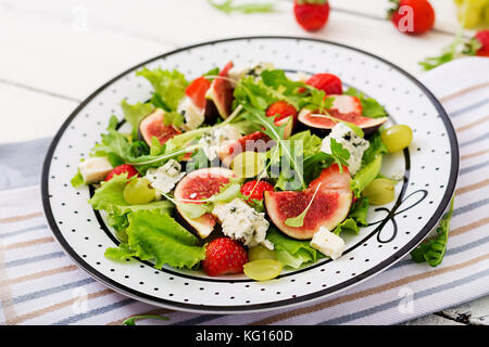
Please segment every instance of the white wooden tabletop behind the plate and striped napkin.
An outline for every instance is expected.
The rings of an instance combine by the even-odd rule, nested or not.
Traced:
[[[436,28],[423,37],[403,35],[386,21],[387,0],[330,0],[326,28],[309,34],[296,24],[291,0],[275,1],[275,13],[228,15],[205,0],[0,0],[0,143],[52,137],[104,81],[191,43],[314,37],[373,52],[419,76],[417,62],[438,54],[457,28],[452,0],[431,0]],[[485,318],[489,298],[409,324],[487,324]]]

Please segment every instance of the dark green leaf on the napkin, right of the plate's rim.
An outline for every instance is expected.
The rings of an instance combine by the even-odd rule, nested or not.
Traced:
[[[431,267],[437,267],[443,260],[447,253],[447,244],[450,232],[450,221],[453,215],[453,201],[450,202],[449,211],[441,218],[439,226],[436,230],[437,235],[435,239],[428,242],[422,243],[419,246],[411,252],[411,257],[416,262],[426,261]]]

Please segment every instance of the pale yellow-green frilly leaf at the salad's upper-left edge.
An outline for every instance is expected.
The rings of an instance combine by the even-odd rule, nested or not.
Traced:
[[[178,107],[178,102],[185,95],[187,80],[185,75],[176,69],[168,70],[160,67],[149,69],[143,67],[136,72],[136,76],[142,76],[153,86],[154,98],[151,102],[164,111],[172,112]]]

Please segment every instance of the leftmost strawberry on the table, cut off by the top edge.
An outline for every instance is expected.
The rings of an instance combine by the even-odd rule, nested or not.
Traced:
[[[326,25],[329,16],[327,0],[294,0],[296,21],[308,31],[315,31]]]

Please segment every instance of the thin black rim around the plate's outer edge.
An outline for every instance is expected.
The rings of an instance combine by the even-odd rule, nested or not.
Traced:
[[[98,95],[100,92],[102,92],[105,88],[108,88],[110,85],[112,85],[114,81],[118,80],[120,78],[124,77],[125,75],[127,75],[128,73],[131,73],[134,70],[136,70],[139,67],[142,67],[149,63],[152,63],[154,61],[158,61],[160,59],[164,59],[168,55],[172,54],[176,54],[179,53],[181,51],[187,51],[193,48],[198,48],[198,47],[202,47],[202,46],[209,46],[209,44],[215,44],[215,43],[222,43],[222,42],[227,42],[227,41],[247,41],[247,40],[253,40],[253,39],[281,39],[281,40],[303,40],[303,41],[312,41],[312,42],[319,42],[319,43],[326,43],[326,44],[331,44],[331,46],[337,46],[337,47],[342,47],[352,51],[356,51],[360,53],[363,53],[367,56],[374,57],[376,60],[378,60],[379,62],[383,62],[387,65],[389,65],[390,67],[397,69],[399,73],[401,73],[402,75],[404,75],[408,79],[410,79],[413,83],[415,83],[423,92],[424,94],[429,99],[429,101],[431,102],[431,104],[435,106],[435,108],[437,110],[437,112],[439,113],[441,120],[444,124],[447,133],[449,136],[449,140],[450,140],[450,152],[451,152],[451,171],[450,171],[450,178],[449,178],[449,182],[448,182],[448,187],[444,191],[443,197],[441,200],[441,203],[439,204],[439,206],[437,207],[435,214],[429,218],[429,220],[427,221],[427,223],[425,224],[425,227],[417,232],[413,239],[406,244],[404,245],[402,248],[398,249],[393,255],[391,255],[390,257],[386,258],[384,261],[379,262],[378,265],[376,265],[375,267],[359,273],[358,275],[343,281],[337,285],[327,287],[325,290],[322,291],[317,291],[315,293],[311,293],[311,294],[306,294],[306,295],[302,295],[302,296],[297,296],[293,298],[289,298],[289,299],[284,299],[284,300],[277,300],[277,301],[273,301],[273,303],[266,303],[266,304],[250,304],[250,305],[236,305],[236,306],[212,306],[212,305],[195,305],[195,304],[186,304],[186,303],[176,303],[176,301],[172,301],[172,300],[167,300],[167,299],[163,299],[153,295],[148,295],[145,293],[141,293],[139,291],[136,291],[134,288],[127,287],[114,280],[112,280],[111,278],[104,275],[103,273],[99,272],[97,269],[95,269],[93,267],[91,267],[88,262],[86,262],[73,248],[72,246],[67,243],[67,241],[64,239],[63,234],[61,233],[61,230],[58,228],[58,223],[54,219],[52,209],[51,209],[51,204],[49,201],[49,170],[50,170],[50,166],[51,166],[51,160],[52,160],[52,156],[53,153],[58,146],[58,142],[60,141],[61,137],[63,136],[65,129],[68,127],[68,125],[71,124],[71,121],[78,115],[78,113],[80,112],[80,110],[83,110],[96,95]],[[450,121],[450,118],[447,114],[447,112],[444,111],[443,106],[440,104],[440,102],[436,99],[436,97],[421,82],[418,81],[415,77],[413,77],[411,74],[406,73],[405,70],[403,70],[402,68],[400,68],[399,66],[390,63],[389,61],[386,61],[375,54],[372,54],[369,52],[347,46],[347,44],[342,44],[342,43],[337,43],[337,42],[331,42],[331,41],[327,41],[327,40],[321,40],[321,39],[313,39],[313,38],[304,38],[304,37],[288,37],[288,36],[252,36],[252,37],[236,37],[236,38],[228,38],[228,39],[221,39],[221,40],[214,40],[214,41],[208,41],[208,42],[202,42],[202,43],[197,43],[197,44],[192,44],[192,46],[188,46],[188,47],[184,47],[184,48],[179,48],[177,50],[158,55],[155,57],[152,57],[148,61],[145,61],[136,66],[133,66],[131,68],[128,68],[127,70],[123,72],[122,74],[117,75],[116,77],[112,78],[110,81],[108,81],[105,85],[103,85],[102,87],[100,87],[99,89],[97,89],[93,93],[91,93],[86,100],[84,100],[78,107],[76,107],[76,110],[67,117],[67,119],[63,123],[63,125],[61,126],[60,130],[57,132],[57,134],[54,136],[50,147],[48,150],[48,153],[46,155],[45,158],[45,163],[43,163],[43,167],[42,167],[42,176],[41,176],[41,195],[42,195],[42,206],[43,206],[43,210],[45,210],[45,216],[48,220],[48,223],[54,234],[54,237],[57,239],[57,241],[59,242],[59,244],[63,247],[63,249],[65,250],[65,253],[78,265],[78,267],[80,267],[82,269],[84,269],[89,275],[91,275],[92,278],[95,278],[96,280],[102,282],[103,284],[108,285],[109,287],[113,288],[116,292],[120,292],[126,296],[129,296],[131,298],[135,298],[137,300],[140,301],[145,301],[148,304],[152,304],[152,305],[158,305],[158,306],[165,306],[168,308],[174,308],[174,309],[180,309],[180,310],[187,310],[187,311],[192,311],[192,312],[215,312],[215,313],[238,313],[238,312],[252,312],[252,311],[260,311],[260,310],[267,310],[267,309],[277,309],[277,308],[281,308],[285,306],[291,306],[291,305],[297,305],[300,303],[305,303],[309,300],[313,300],[313,299],[317,299],[321,297],[325,297],[326,295],[330,295],[333,293],[337,293],[339,291],[346,290],[348,287],[350,287],[351,285],[354,285],[356,283],[362,282],[363,280],[366,280],[367,278],[371,278],[372,275],[386,270],[388,267],[392,266],[397,260],[399,260],[400,258],[402,258],[402,256],[404,256],[405,254],[408,254],[411,249],[413,249],[415,246],[417,246],[423,239],[426,236],[426,234],[428,234],[428,232],[436,226],[436,223],[439,221],[439,219],[441,218],[441,216],[443,215],[443,213],[447,209],[447,206],[450,203],[450,200],[452,198],[453,192],[455,190],[455,184],[456,184],[456,179],[459,176],[459,165],[460,165],[460,157],[459,157],[459,144],[457,144],[457,139],[456,139],[456,134],[455,134],[455,130],[453,128],[452,123]],[[230,281],[229,281],[230,282]]]

